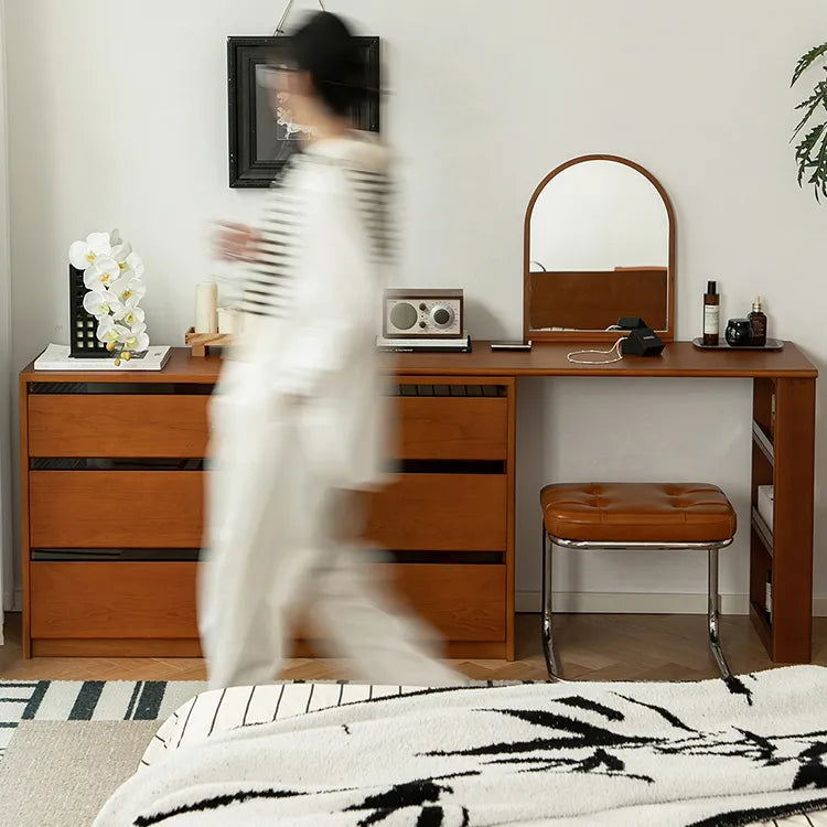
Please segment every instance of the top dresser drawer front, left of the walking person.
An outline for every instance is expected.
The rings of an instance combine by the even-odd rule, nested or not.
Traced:
[[[203,458],[208,396],[31,395],[30,457]]]

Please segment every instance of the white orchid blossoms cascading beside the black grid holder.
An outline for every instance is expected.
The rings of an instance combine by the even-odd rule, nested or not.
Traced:
[[[114,229],[92,233],[69,247],[69,262],[84,273],[88,292],[84,309],[97,319],[97,337],[120,359],[149,347],[144,313],[138,307],[147,292],[143,261]]]

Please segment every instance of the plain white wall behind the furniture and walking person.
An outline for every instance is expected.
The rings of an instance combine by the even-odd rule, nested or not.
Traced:
[[[798,190],[788,143],[805,92],[790,90],[792,69],[827,39],[821,0],[330,6],[383,36],[393,71],[385,123],[404,164],[404,280],[464,287],[476,337],[522,330],[523,218],[536,184],[569,158],[605,152],[646,167],[674,202],[681,339],[698,333],[704,286],[717,278],[723,319],[761,293],[771,335],[824,366],[827,206]],[[182,341],[193,284],[210,272],[205,223],[253,216],[260,203],[226,185],[224,40],[270,32],[281,8],[10,3],[15,366],[65,340],[69,241],[116,225],[147,260],[154,341]],[[536,492],[548,480],[702,477],[726,487],[745,526],[749,404],[748,385],[731,382],[523,383],[520,600],[538,588]],[[825,598],[823,485],[817,509]],[[724,558],[724,592],[747,591],[745,544],[742,531]],[[558,584],[697,594],[702,571],[697,558],[606,555]]]

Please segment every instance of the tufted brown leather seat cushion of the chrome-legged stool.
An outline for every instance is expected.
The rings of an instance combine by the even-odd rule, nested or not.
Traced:
[[[705,483],[562,483],[540,491],[551,537],[586,543],[712,543],[735,535],[727,495]]]

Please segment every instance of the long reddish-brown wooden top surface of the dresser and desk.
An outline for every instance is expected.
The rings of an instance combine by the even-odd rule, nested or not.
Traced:
[[[643,376],[709,378],[815,378],[816,366],[791,342],[782,351],[701,351],[691,342],[667,344],[660,356],[624,356],[604,365],[572,364],[576,350],[608,350],[605,343],[535,344],[531,351],[492,351],[475,342],[472,353],[388,354],[388,369],[399,376]],[[582,356],[581,358],[604,358]],[[173,348],[163,370],[35,370],[33,363],[20,374],[22,382],[203,383],[216,380],[221,358],[193,357],[189,347]]]

